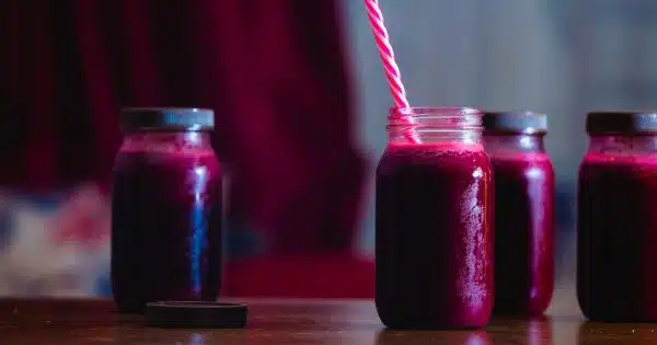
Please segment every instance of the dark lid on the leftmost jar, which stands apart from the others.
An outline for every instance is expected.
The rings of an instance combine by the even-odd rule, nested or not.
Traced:
[[[128,107],[120,111],[120,128],[124,133],[212,130],[215,113],[196,107]]]

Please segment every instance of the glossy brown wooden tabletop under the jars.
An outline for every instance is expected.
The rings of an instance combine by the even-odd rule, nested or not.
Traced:
[[[388,331],[371,301],[245,300],[245,330],[149,329],[108,300],[0,300],[0,344],[646,344],[657,324],[495,319],[481,331]]]

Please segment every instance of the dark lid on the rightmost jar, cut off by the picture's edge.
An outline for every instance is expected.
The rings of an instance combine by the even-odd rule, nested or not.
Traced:
[[[586,116],[589,135],[656,135],[657,111],[596,111]]]

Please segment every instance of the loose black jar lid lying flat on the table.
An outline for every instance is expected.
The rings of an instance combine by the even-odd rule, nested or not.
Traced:
[[[146,322],[166,329],[243,329],[247,307],[241,303],[163,301],[146,304]]]

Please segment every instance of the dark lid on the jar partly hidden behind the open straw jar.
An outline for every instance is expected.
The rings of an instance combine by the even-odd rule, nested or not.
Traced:
[[[544,135],[548,116],[533,112],[484,112],[484,134],[493,135]]]

